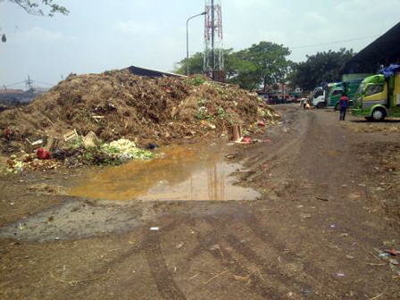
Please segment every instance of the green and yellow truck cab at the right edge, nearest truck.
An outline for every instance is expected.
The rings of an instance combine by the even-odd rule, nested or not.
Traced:
[[[400,117],[400,64],[362,80],[355,94],[352,113],[368,121]]]

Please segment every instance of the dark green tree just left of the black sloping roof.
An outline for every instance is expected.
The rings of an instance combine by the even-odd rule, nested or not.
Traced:
[[[353,49],[341,48],[338,52],[319,52],[307,55],[303,63],[296,63],[293,72],[289,76],[292,87],[302,87],[304,90],[312,90],[323,82],[335,82],[340,80],[340,71],[354,56]]]

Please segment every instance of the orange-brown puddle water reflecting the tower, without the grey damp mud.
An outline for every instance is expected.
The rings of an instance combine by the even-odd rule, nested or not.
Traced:
[[[105,200],[253,200],[259,193],[235,187],[229,174],[239,164],[223,162],[225,144],[171,146],[160,158],[132,161],[90,174],[71,196]]]

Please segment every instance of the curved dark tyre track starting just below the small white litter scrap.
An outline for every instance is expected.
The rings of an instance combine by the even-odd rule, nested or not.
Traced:
[[[186,296],[173,280],[173,275],[165,263],[158,232],[151,232],[147,236],[145,249],[147,264],[160,296],[168,300],[185,300]]]

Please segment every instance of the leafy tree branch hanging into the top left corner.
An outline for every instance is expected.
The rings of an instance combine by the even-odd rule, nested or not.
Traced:
[[[30,0],[8,0],[8,1],[10,1],[13,4],[19,5],[26,12],[37,16],[53,17],[54,13],[56,12],[63,14],[70,13],[64,6],[61,6],[59,4],[54,4],[53,0],[42,0],[41,1],[42,4],[40,4],[40,1],[30,1]],[[41,7],[43,7],[43,9],[46,8],[46,12],[44,12]]]

